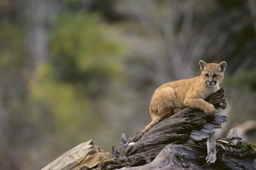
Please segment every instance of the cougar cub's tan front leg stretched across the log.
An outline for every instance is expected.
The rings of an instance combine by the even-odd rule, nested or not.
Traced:
[[[200,98],[186,98],[185,105],[190,108],[200,109],[207,115],[214,115],[216,113],[214,105]]]

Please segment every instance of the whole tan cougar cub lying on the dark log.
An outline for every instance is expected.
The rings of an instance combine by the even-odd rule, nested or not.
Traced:
[[[200,109],[207,115],[216,113],[214,106],[204,99],[219,89],[219,83],[224,78],[226,62],[206,64],[201,60],[199,64],[202,71],[200,76],[169,82],[155,90],[149,109],[152,122],[138,135],[138,139],[159,121],[185,107]],[[223,98],[221,107],[225,109],[226,106],[227,99]]]

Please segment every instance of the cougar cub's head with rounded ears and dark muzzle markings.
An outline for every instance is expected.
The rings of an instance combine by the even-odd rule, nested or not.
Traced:
[[[226,62],[221,62],[219,64],[206,64],[204,61],[200,60],[199,64],[202,70],[201,77],[204,83],[207,84],[209,87],[213,87],[214,85],[220,83],[223,80]]]

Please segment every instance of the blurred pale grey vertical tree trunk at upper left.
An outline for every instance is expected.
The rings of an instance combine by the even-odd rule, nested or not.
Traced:
[[[58,14],[57,0],[26,0],[24,6],[26,31],[26,46],[33,58],[34,68],[45,64],[49,56],[47,25],[54,23]]]

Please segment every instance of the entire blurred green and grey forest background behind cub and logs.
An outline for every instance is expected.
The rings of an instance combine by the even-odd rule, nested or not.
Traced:
[[[154,90],[227,62],[228,122],[256,144],[255,0],[0,0],[0,167],[105,152],[151,121]]]

